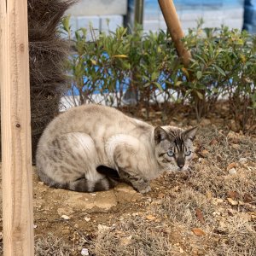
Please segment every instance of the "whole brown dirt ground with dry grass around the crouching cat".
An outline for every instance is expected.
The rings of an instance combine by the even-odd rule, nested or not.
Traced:
[[[200,126],[191,171],[165,173],[146,195],[126,184],[97,193],[52,189],[34,168],[36,255],[255,256],[256,138],[221,118]]]

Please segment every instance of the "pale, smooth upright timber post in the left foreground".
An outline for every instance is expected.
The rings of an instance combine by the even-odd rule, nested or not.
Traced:
[[[3,255],[34,254],[27,0],[0,0]]]

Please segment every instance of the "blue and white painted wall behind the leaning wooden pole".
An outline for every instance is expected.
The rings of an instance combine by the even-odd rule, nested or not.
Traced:
[[[254,0],[253,0],[254,1]],[[135,0],[128,0],[131,24],[134,15]],[[183,30],[196,26],[195,20],[203,18],[205,26],[242,28],[244,0],[174,0],[177,15]],[[144,0],[144,29],[158,31],[165,29],[157,0]]]

